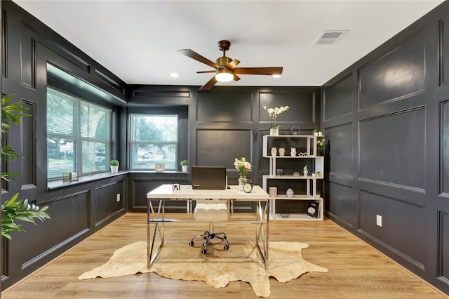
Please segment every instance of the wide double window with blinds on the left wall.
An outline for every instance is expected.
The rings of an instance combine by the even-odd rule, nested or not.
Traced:
[[[111,110],[48,86],[47,178],[108,171],[111,118]]]

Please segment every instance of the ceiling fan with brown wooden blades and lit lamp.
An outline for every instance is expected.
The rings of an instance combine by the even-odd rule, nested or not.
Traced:
[[[212,79],[210,79],[208,83],[204,84],[203,86],[201,86],[201,88],[199,88],[200,91],[212,88],[218,81],[220,82],[229,82],[232,80],[239,81],[240,78],[237,76],[237,74],[260,74],[270,76],[276,75],[281,76],[282,67],[236,67],[240,63],[240,61],[226,57],[226,51],[229,50],[230,46],[231,46],[230,41],[218,42],[218,48],[220,49],[220,51],[223,51],[223,56],[217,58],[215,62],[212,62],[207,58],[204,58],[203,56],[199,55],[198,53],[190,49],[183,49],[178,51],[189,58],[198,60],[199,62],[203,62],[204,64],[209,65],[210,67],[213,67],[215,69],[213,71],[211,70],[211,71],[196,72],[197,74],[215,73],[215,76],[212,77]]]

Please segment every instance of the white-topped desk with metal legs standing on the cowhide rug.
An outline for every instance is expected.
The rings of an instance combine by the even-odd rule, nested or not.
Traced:
[[[173,190],[171,184],[161,185],[152,192],[147,193],[148,207],[147,207],[147,266],[151,267],[156,259],[159,251],[164,244],[164,230],[165,222],[173,221],[195,221],[191,217],[192,201],[196,199],[215,199],[228,202],[230,207],[229,218],[227,221],[235,222],[251,222],[257,225],[255,242],[259,250],[260,257],[267,268],[268,265],[268,239],[269,239],[269,194],[265,192],[260,186],[253,186],[253,191],[246,193],[239,191],[238,186],[231,186],[227,190],[194,190],[191,185],[180,185],[180,190]],[[159,200],[157,211],[155,211],[152,201]],[[165,218],[165,201],[166,200],[184,200],[187,201],[187,219],[186,220],[170,220]],[[257,203],[257,211],[252,219],[234,219],[233,202],[234,201],[255,201]],[[262,202],[265,205],[262,207]],[[209,220],[208,220],[209,221]],[[212,220],[213,221],[213,220]],[[221,220],[222,221],[222,220]],[[151,224],[154,223],[154,232],[152,234]],[[159,225],[161,223],[161,225]],[[265,224],[265,225],[264,225]],[[160,245],[154,251],[154,244],[156,237],[160,238]],[[260,246],[262,242],[262,248]],[[186,246],[188,246],[186,244]]]

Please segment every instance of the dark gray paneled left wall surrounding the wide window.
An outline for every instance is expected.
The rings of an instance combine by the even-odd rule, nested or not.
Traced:
[[[21,126],[11,127],[6,138],[2,138],[25,159],[8,163],[8,172],[22,176],[2,185],[1,202],[20,192],[20,199],[48,206],[51,215],[51,220],[43,223],[38,220],[37,225],[25,222],[27,233],[13,233],[12,241],[1,238],[4,290],[123,215],[128,192],[126,175],[47,189],[46,63],[101,88],[105,91],[102,102],[108,107],[126,105],[125,84],[13,2],[2,1],[1,21],[4,37],[1,93],[15,93],[12,101],[22,102],[32,114],[22,120]],[[119,115],[114,112],[114,126],[120,125]],[[114,154],[119,153],[117,131],[114,129]],[[122,198],[119,202],[117,193]]]

